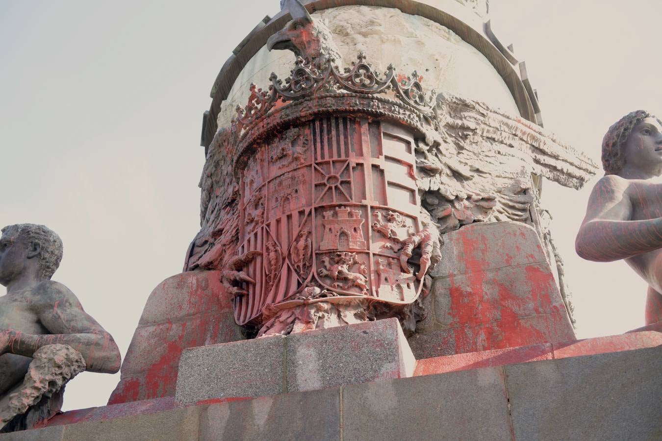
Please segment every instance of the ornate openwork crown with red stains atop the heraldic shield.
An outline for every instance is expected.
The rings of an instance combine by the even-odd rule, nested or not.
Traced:
[[[233,130],[238,140],[236,171],[245,167],[246,147],[273,130],[316,115],[343,112],[386,118],[405,124],[433,143],[440,129],[435,117],[436,92],[425,93],[414,71],[399,75],[391,64],[380,75],[360,52],[352,67],[343,72],[330,58],[322,65],[297,57],[291,75],[284,81],[271,73],[265,91],[250,85],[245,107],[237,106]]]

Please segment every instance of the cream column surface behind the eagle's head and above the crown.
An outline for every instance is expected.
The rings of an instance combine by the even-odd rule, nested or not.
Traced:
[[[344,63],[365,52],[375,70],[383,72],[389,63],[397,72],[416,70],[428,90],[448,91],[463,97],[488,102],[493,107],[517,114],[517,106],[494,67],[476,48],[457,34],[432,20],[402,13],[399,9],[344,6],[312,14],[331,30]],[[218,127],[230,126],[236,106],[248,100],[251,83],[269,84],[273,71],[287,77],[295,57],[265,47],[246,63],[234,82],[228,98],[221,104]]]

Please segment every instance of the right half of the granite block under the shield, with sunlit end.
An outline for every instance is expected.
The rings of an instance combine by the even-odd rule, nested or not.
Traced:
[[[397,319],[287,337],[287,391],[410,377],[416,360]]]

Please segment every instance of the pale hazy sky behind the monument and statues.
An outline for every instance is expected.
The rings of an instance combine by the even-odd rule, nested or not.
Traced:
[[[0,0],[0,226],[43,223],[62,237],[54,280],[122,356],[148,295],[181,272],[199,229],[213,81],[278,9],[278,0]],[[596,162],[620,116],[662,115],[662,2],[492,0],[491,13],[526,61],[545,128]],[[575,255],[594,181],[579,192],[545,182],[543,192],[580,338],[643,325],[645,283],[624,262]],[[64,409],[105,405],[118,381],[81,374]]]

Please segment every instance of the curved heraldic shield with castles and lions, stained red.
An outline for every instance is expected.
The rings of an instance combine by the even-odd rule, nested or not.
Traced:
[[[399,259],[421,229],[414,140],[400,126],[330,116],[254,145],[240,176],[238,255],[255,283],[235,318],[260,321],[265,305],[318,288],[326,300],[412,303],[422,284]],[[256,253],[257,254],[257,253]]]

